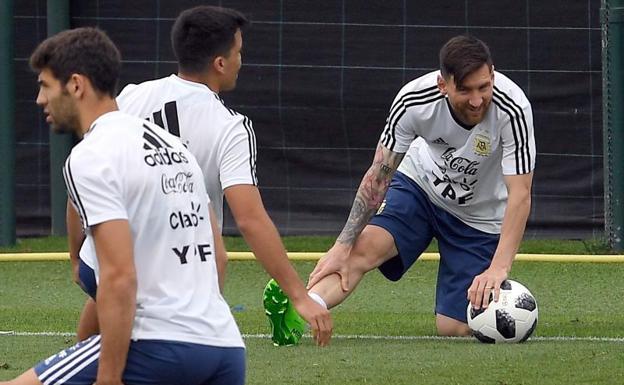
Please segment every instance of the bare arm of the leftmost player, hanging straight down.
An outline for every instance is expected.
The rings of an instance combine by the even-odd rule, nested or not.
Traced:
[[[136,270],[130,224],[111,220],[92,227],[100,267],[97,314],[102,336],[96,383],[121,383],[136,311]]]

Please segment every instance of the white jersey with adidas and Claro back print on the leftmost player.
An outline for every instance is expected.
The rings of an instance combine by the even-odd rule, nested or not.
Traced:
[[[63,169],[86,239],[80,258],[99,282],[91,229],[126,219],[137,274],[134,340],[243,347],[221,296],[202,173],[173,135],[115,111],[100,116]]]

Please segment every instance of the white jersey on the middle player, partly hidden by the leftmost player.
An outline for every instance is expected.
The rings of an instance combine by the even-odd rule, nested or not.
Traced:
[[[227,108],[206,85],[176,75],[129,84],[117,104],[121,111],[148,119],[182,139],[204,173],[219,228],[223,228],[223,190],[258,184],[251,120]]]

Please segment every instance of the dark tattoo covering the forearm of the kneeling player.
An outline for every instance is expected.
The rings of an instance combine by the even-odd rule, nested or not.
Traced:
[[[347,223],[338,236],[339,242],[346,244],[355,242],[381,205],[403,156],[404,154],[392,152],[384,147],[377,147],[373,164],[362,178]]]

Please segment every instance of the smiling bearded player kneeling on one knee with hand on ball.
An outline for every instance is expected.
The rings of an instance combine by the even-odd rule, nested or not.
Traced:
[[[497,301],[511,270],[534,165],[526,96],[494,71],[485,43],[450,39],[440,71],[394,99],[347,223],[310,274],[310,295],[336,306],[374,268],[398,280],[435,237],[438,333],[469,334],[468,302],[479,309],[490,294]]]

